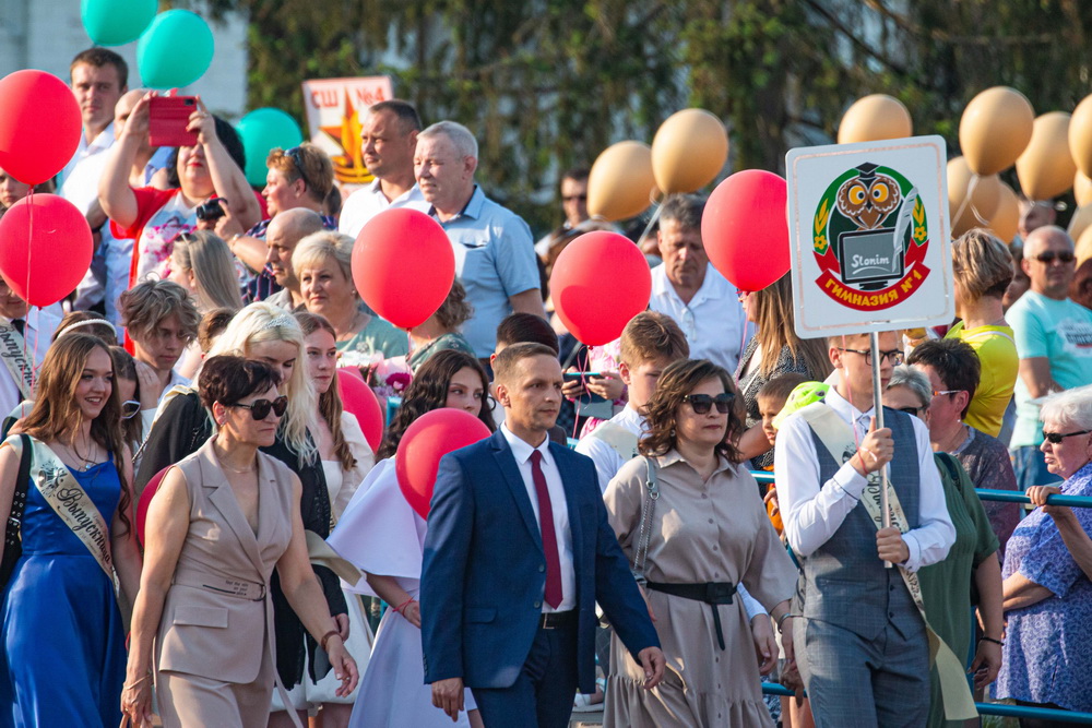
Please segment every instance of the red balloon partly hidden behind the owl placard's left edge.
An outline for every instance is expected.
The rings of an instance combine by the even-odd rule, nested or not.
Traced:
[[[791,266],[788,186],[784,178],[746,169],[716,186],[701,216],[709,262],[737,288],[761,290]]]

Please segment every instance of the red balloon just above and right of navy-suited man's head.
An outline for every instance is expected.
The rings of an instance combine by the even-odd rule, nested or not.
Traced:
[[[652,273],[633,241],[617,232],[585,232],[561,251],[550,273],[554,308],[573,336],[609,344],[649,308]]]

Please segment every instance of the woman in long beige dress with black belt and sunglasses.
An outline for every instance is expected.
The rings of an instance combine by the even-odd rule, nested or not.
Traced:
[[[642,456],[607,487],[610,525],[646,582],[667,669],[645,691],[643,670],[615,636],[605,726],[773,725],[759,671],[773,667],[778,649],[772,633],[752,639],[734,592],[743,582],[770,610],[792,660],[796,569],[729,444],[741,428],[728,373],[705,360],[677,361],[649,402]],[[755,619],[769,624],[764,614]]]

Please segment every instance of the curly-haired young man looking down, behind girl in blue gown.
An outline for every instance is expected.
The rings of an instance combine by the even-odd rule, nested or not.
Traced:
[[[190,380],[175,371],[201,321],[189,291],[174,281],[145,281],[121,294],[118,307],[133,344],[133,358],[155,370],[161,387],[156,398],[163,399],[179,384],[189,384]]]

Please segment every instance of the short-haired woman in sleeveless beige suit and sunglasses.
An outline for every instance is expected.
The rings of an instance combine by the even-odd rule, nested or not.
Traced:
[[[308,561],[299,479],[258,451],[273,443],[287,406],[277,383],[271,367],[239,357],[213,357],[202,370],[201,399],[218,431],[167,473],[147,513],[121,694],[138,726],[151,725],[153,678],[167,728],[265,726],[276,682],[274,566],[340,692],[356,687],[356,664]]]

